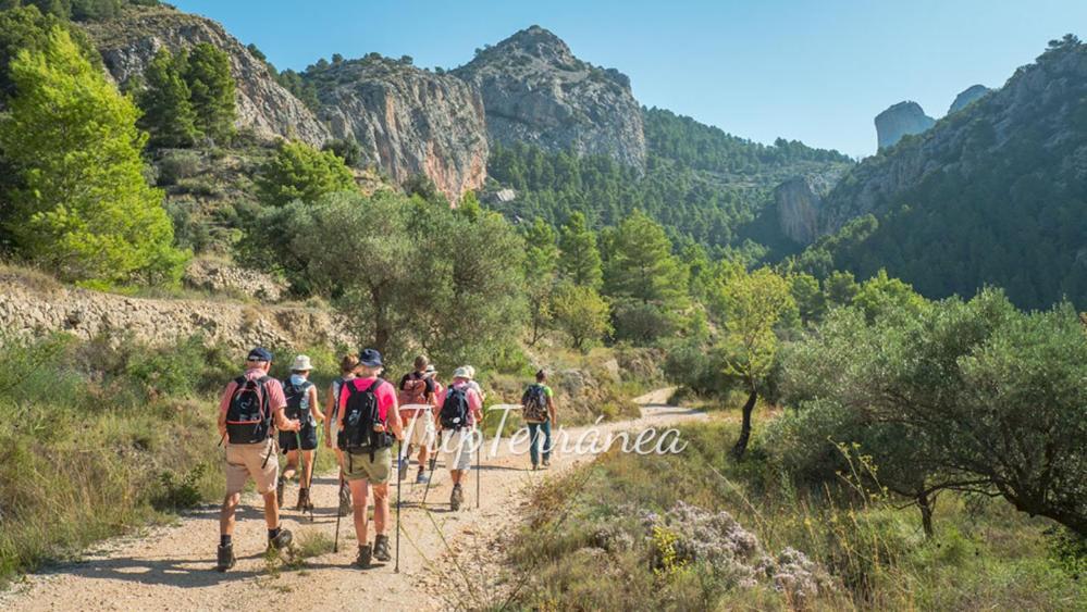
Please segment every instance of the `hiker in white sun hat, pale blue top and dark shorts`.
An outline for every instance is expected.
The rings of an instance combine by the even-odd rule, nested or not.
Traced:
[[[313,510],[309,498],[310,483],[313,480],[313,451],[317,449],[317,424],[324,421],[317,400],[317,386],[309,382],[313,370],[309,357],[300,354],[291,364],[291,377],[283,382],[283,392],[287,398],[287,419],[301,422],[298,432],[280,432],[280,449],[287,455],[287,465],[275,485],[275,500],[283,508],[283,489],[287,480],[294,478],[298,470],[299,453],[302,460],[302,474],[298,476],[298,502],[295,510]],[[301,448],[299,448],[299,445]]]

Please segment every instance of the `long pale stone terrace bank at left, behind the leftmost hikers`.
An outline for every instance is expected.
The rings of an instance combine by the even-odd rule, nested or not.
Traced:
[[[329,313],[305,308],[258,308],[227,301],[140,299],[28,283],[0,274],[0,329],[17,336],[67,332],[81,338],[132,334],[166,345],[200,334],[237,351],[256,345],[313,347],[353,344]]]

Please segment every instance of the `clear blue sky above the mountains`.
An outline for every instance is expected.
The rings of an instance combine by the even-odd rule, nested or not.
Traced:
[[[539,24],[579,58],[630,75],[634,96],[764,142],[865,155],[873,117],[916,100],[940,117],[975,83],[999,87],[1047,41],[1087,37],[1087,0],[174,0],[256,42],[280,68],[370,51],[455,67]]]

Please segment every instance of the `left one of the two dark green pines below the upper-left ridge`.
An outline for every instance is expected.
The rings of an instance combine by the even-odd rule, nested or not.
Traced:
[[[139,95],[144,116],[139,126],[151,134],[157,147],[192,147],[200,136],[196,111],[183,75],[185,54],[161,49],[144,71],[146,88]]]

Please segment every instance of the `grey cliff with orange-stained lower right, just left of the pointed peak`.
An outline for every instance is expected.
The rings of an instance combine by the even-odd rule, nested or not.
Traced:
[[[354,138],[396,182],[425,174],[454,202],[483,186],[483,100],[465,82],[373,54],[305,77],[318,88],[333,135]]]

